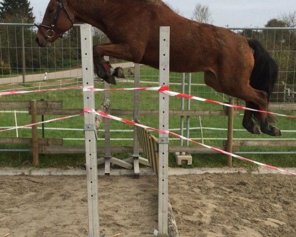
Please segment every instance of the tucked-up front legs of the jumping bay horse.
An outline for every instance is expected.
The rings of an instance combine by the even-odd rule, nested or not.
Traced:
[[[114,69],[110,62],[104,59],[104,56],[135,61],[135,57],[130,53],[130,47],[125,43],[95,45],[93,47],[93,61],[96,74],[111,84],[116,84],[114,77],[125,78],[125,76],[121,67]]]

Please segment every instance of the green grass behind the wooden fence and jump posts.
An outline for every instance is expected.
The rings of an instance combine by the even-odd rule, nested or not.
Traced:
[[[127,69],[126,69],[127,71]],[[133,77],[129,77],[129,79],[133,79]],[[158,81],[158,70],[152,69],[146,66],[141,67],[141,81],[146,81],[141,83],[143,87],[149,86],[157,86]],[[181,92],[181,85],[178,83],[181,82],[181,74],[170,74],[170,90]],[[55,81],[48,81],[49,84],[55,83]],[[222,94],[214,92],[211,88],[203,85],[196,85],[199,83],[203,83],[203,74],[196,73],[192,74],[192,83],[195,85],[191,86],[191,94],[207,99],[217,100],[227,102],[228,98],[223,96]],[[30,87],[36,85],[36,83],[25,83],[22,84],[21,87],[25,90],[26,87]],[[103,88],[103,83],[97,83],[97,88]],[[122,87],[134,87],[133,83],[130,82],[122,82],[118,81],[117,85],[111,85],[111,88],[122,88]],[[187,93],[187,86],[185,86],[185,93]],[[154,110],[158,109],[158,92],[154,91],[141,91],[140,92],[140,109],[141,110]],[[104,100],[104,92],[97,92],[95,95],[95,101],[97,107],[101,104]],[[44,100],[62,100],[63,101],[63,108],[68,109],[77,109],[83,108],[83,99],[82,99],[82,91],[81,90],[71,90],[71,91],[54,91],[54,92],[42,92],[42,93],[32,93],[32,94],[23,94],[23,95],[13,95],[13,96],[3,96],[1,97],[2,101],[9,101],[9,100],[31,100],[31,99],[44,99]],[[235,101],[236,103],[237,101]],[[133,91],[111,91],[111,109],[121,109],[121,110],[133,110],[133,103],[134,103],[134,92]],[[179,110],[181,108],[181,98],[170,97],[170,109],[171,110]],[[187,100],[185,100],[185,108],[187,107]],[[191,110],[222,110],[222,106],[203,103],[198,101],[190,101],[190,108]],[[275,111],[277,112],[277,111]],[[290,115],[296,115],[296,112],[292,111],[279,111],[279,113],[286,113]],[[243,114],[243,111],[241,111]],[[58,118],[60,116],[44,116],[45,120]],[[132,116],[125,116],[123,118],[132,119]],[[41,116],[38,116],[38,121],[41,120]],[[284,118],[278,117],[277,126],[281,130],[296,130],[296,123],[292,118]],[[186,120],[186,118],[185,118]],[[25,125],[31,123],[31,116],[28,114],[17,114],[17,122],[18,125]],[[157,116],[146,116],[141,117],[142,124],[151,126],[151,127],[158,127],[158,117]],[[202,124],[202,130],[200,129],[200,122]],[[271,137],[261,134],[261,135],[253,135],[245,130],[241,125],[242,122],[242,115],[235,116],[234,119],[234,129],[242,129],[239,131],[234,131],[234,138],[235,139],[270,139]],[[44,126],[45,128],[83,128],[83,117],[76,117],[65,119],[63,121],[58,122],[51,122],[46,123]],[[15,120],[13,114],[8,113],[0,113],[0,124],[1,126],[15,126]],[[41,127],[41,126],[39,126]],[[179,128],[180,127],[180,117],[177,116],[170,116],[170,128]],[[190,130],[190,137],[191,138],[198,138],[197,141],[201,141],[201,137],[203,135],[204,143],[211,146],[222,146],[222,139],[227,137],[226,130],[211,130],[207,127],[214,127],[214,128],[226,128],[227,127],[227,117],[226,116],[202,116],[202,117],[190,117],[190,128],[194,128]],[[104,124],[101,126],[101,131],[98,132],[98,137],[100,139],[104,139]],[[118,121],[111,121],[111,129],[116,130],[123,130],[123,129],[130,129],[132,130],[133,127],[128,124],[124,124]],[[202,131],[202,133],[201,133]],[[20,137],[31,137],[31,130],[30,129],[19,129],[19,136]],[[179,131],[175,131],[179,133]],[[15,136],[16,131],[6,131],[0,133],[0,136],[7,137],[7,136]],[[153,135],[158,136],[156,133]],[[38,136],[41,137],[41,129],[38,129]],[[84,133],[83,131],[68,131],[68,130],[45,130],[45,137],[46,138],[83,138]],[[133,133],[132,132],[120,132],[117,131],[115,133],[111,133],[111,138],[121,138],[118,141],[111,141],[111,145],[122,145],[122,146],[132,146],[133,141],[125,141],[123,139],[132,139]],[[171,137],[173,138],[173,137]],[[291,132],[284,132],[281,138],[284,139],[295,139],[296,134]],[[209,140],[210,139],[210,140]],[[217,140],[220,139],[220,140]],[[98,141],[98,146],[104,146],[104,141]],[[171,140],[170,145],[179,145],[180,141]],[[83,146],[84,141],[73,141],[73,140],[64,140],[65,146]],[[190,144],[192,145],[192,144]],[[197,146],[197,145],[196,145]],[[30,146],[12,146],[12,145],[0,145],[0,149],[30,149]],[[296,152],[296,148],[293,147],[242,147],[241,151],[273,151],[273,152]],[[31,153],[0,153],[0,166],[12,166],[12,167],[21,167],[30,165],[30,161],[32,159]],[[114,157],[125,158],[130,156],[131,154],[112,154]],[[242,155],[247,158],[255,159],[259,162],[268,163],[275,166],[281,167],[295,167],[296,166],[296,155]],[[84,163],[84,155],[77,154],[77,155],[40,155],[40,165],[39,167],[65,167],[65,166],[74,166],[79,167]],[[256,167],[251,163],[247,163],[244,161],[240,161],[237,159],[233,159],[233,164],[236,167],[245,166],[247,168],[253,169]],[[177,166],[174,157],[170,154],[170,165],[172,167]],[[226,158],[224,155],[220,154],[193,154],[193,164],[190,167],[223,167],[226,165]],[[186,167],[186,165],[183,165]]]

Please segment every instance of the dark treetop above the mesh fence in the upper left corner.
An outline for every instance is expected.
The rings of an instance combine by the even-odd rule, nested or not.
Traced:
[[[28,0],[2,0],[0,2],[2,22],[33,23],[35,16]]]

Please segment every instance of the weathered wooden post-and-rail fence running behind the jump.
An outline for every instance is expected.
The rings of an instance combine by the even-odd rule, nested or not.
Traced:
[[[83,112],[82,109],[64,109],[63,101],[0,101],[0,110],[28,110],[32,117],[32,122],[37,121],[37,115],[54,115],[54,116],[71,116]],[[270,110],[295,111],[296,103],[270,103]],[[111,110],[111,115],[114,116],[133,116],[133,110]],[[140,116],[158,116],[158,110],[141,110]],[[198,110],[170,110],[170,116],[228,116],[229,108],[224,107],[218,111],[198,111]],[[231,116],[228,118],[228,141],[223,141],[219,149],[228,152],[237,152],[240,147],[244,146],[271,146],[271,147],[294,147],[295,141],[287,140],[233,140],[231,121],[233,116],[239,115],[242,111],[234,109],[230,112]],[[84,147],[63,146],[62,138],[38,138],[37,128],[32,128],[32,138],[17,138],[17,137],[0,137],[0,144],[18,144],[31,145],[34,164],[38,163],[38,154],[83,154]],[[229,144],[229,141],[231,143]],[[112,153],[133,153],[132,146],[112,146]],[[169,146],[169,152],[209,152],[208,149],[201,146]],[[104,153],[105,147],[98,147],[98,153]],[[143,152],[140,148],[139,152]],[[210,151],[211,152],[211,151]],[[227,165],[231,166],[231,159],[228,158]]]

